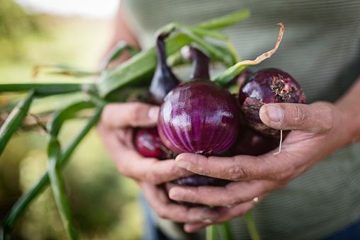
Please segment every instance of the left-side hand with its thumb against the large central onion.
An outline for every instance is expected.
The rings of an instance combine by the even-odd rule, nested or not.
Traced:
[[[174,159],[159,161],[139,154],[133,144],[133,127],[154,127],[159,107],[145,103],[109,103],[98,124],[99,134],[118,171],[133,178],[157,215],[175,222],[215,222],[218,213],[208,207],[185,207],[169,200],[161,183],[191,176]]]

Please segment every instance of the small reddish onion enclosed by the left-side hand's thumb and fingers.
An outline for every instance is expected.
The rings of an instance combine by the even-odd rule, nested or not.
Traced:
[[[135,147],[137,152],[146,157],[165,159],[166,154],[162,150],[157,127],[141,128],[135,135]]]

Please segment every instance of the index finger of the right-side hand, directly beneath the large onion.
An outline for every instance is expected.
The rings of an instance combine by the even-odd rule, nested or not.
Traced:
[[[231,157],[203,156],[184,153],[176,156],[176,164],[193,173],[231,181],[271,180],[286,181],[296,171],[286,151],[261,156],[239,155]]]

